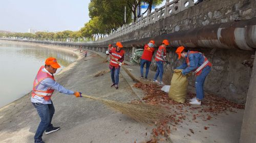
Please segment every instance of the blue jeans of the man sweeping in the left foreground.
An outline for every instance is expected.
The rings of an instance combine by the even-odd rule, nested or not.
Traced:
[[[34,139],[36,141],[42,140],[42,134],[45,130],[51,129],[53,126],[51,124],[52,117],[54,115],[55,109],[52,104],[42,104],[42,103],[32,103],[37,110],[39,117],[41,118],[41,122],[36,130]]]

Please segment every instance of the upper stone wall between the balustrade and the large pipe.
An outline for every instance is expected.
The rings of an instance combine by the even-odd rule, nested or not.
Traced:
[[[206,0],[111,41],[130,41],[154,37],[209,24],[232,22],[237,18],[241,20],[251,19],[255,15],[254,10],[255,0]]]

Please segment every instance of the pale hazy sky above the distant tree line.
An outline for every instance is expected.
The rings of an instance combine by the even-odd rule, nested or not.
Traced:
[[[3,0],[0,2],[0,30],[78,31],[90,20],[90,0]],[[156,7],[159,8],[165,4]]]

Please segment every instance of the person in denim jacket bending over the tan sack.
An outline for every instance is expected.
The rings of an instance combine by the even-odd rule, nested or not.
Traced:
[[[190,104],[201,105],[201,100],[204,98],[204,81],[211,69],[211,63],[198,51],[189,51],[183,46],[177,48],[176,53],[179,55],[178,59],[185,58],[185,62],[176,69],[183,69],[182,74],[186,75],[191,71],[196,73],[196,92],[197,97],[190,99]]]

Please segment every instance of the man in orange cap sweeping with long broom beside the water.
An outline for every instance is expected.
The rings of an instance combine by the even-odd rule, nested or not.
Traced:
[[[44,143],[44,141],[42,141],[44,131],[46,131],[46,134],[49,134],[60,129],[60,127],[53,127],[51,124],[55,112],[51,100],[54,90],[63,94],[73,94],[76,97],[82,97],[80,92],[67,90],[55,81],[53,74],[58,68],[60,68],[60,66],[55,58],[47,58],[45,66],[40,67],[34,80],[31,102],[41,118],[41,122],[34,136],[35,142],[38,143]]]

